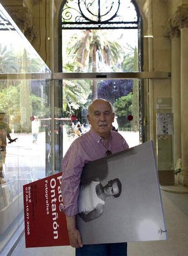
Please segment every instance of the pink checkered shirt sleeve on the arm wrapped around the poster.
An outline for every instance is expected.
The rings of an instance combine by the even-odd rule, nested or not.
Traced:
[[[74,216],[78,213],[79,183],[83,167],[84,163],[79,154],[79,147],[74,141],[61,163],[61,171],[63,172],[61,183],[63,204],[61,205],[61,211],[66,216]]]

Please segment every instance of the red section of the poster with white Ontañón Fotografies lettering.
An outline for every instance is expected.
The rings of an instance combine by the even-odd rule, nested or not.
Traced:
[[[66,218],[59,210],[62,172],[24,185],[26,247],[66,246]]]

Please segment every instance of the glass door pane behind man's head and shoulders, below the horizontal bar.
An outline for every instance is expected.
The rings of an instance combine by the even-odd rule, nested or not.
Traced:
[[[127,140],[129,146],[139,144],[138,80],[63,80],[63,155],[70,144],[89,131],[87,107],[92,101],[92,85],[97,84],[97,96],[109,100],[114,107],[112,129]],[[74,93],[74,98],[70,99]]]

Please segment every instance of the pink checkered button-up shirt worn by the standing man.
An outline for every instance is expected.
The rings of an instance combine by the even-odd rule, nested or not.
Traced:
[[[106,156],[107,150],[114,154],[128,148],[127,142],[117,131],[110,132],[108,149],[104,146],[103,139],[92,129],[77,138],[70,145],[61,164],[63,172],[61,211],[64,211],[67,216],[74,216],[78,213],[80,176],[86,163]]]

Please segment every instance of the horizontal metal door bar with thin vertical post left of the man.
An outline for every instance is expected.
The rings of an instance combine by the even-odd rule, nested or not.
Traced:
[[[163,71],[155,72],[119,72],[119,73],[15,73],[0,74],[0,81],[10,80],[52,80],[51,84],[51,119],[54,120],[54,81],[55,80],[113,80],[113,79],[166,79],[171,74]],[[54,131],[54,122],[51,122],[51,131]],[[54,133],[51,133],[51,142],[54,142]],[[51,150],[51,168],[54,173],[54,147]]]

